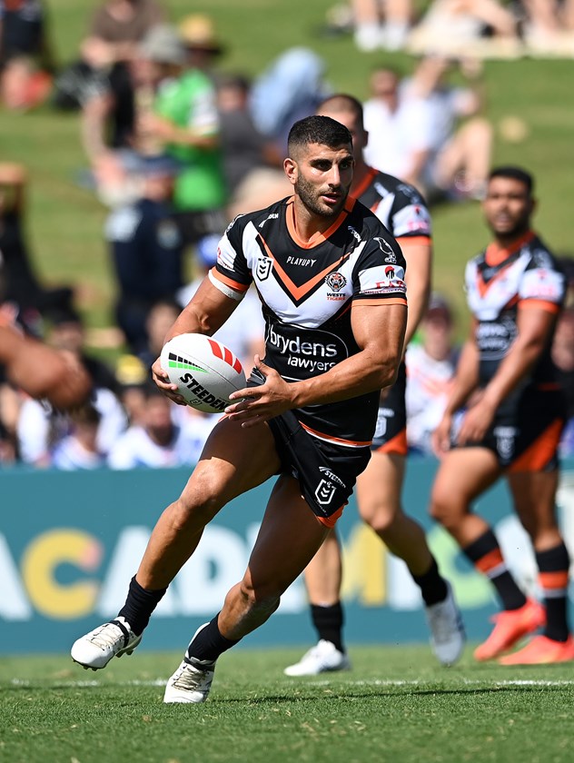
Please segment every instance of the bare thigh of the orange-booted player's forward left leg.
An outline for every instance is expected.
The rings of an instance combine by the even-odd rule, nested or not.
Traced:
[[[488,448],[454,448],[440,461],[431,490],[431,516],[439,521],[463,516],[470,503],[502,473]]]

